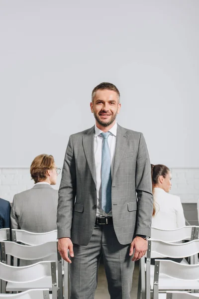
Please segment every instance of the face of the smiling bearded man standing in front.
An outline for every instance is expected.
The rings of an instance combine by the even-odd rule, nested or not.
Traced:
[[[107,89],[97,90],[94,101],[91,102],[91,112],[101,126],[110,126],[119,113],[121,104],[118,103],[116,92]]]

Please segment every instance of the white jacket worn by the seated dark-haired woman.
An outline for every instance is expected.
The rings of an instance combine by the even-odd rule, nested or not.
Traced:
[[[172,230],[185,226],[185,216],[179,196],[169,194],[161,188],[154,188],[153,198],[156,213],[152,218],[152,227]]]

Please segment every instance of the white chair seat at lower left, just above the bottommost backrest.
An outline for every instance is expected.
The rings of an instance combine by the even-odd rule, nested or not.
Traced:
[[[30,283],[10,283],[8,282],[6,285],[7,292],[14,292],[14,291],[27,291],[29,289],[49,289],[52,291],[52,279],[51,276],[40,279],[35,282]]]

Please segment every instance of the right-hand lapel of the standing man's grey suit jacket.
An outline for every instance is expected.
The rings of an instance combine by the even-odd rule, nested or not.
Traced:
[[[123,153],[126,152],[126,148],[127,148],[127,144],[128,144],[128,137],[127,137],[126,132],[127,131],[124,128],[120,127],[117,124],[117,137],[116,137],[116,145],[115,145],[112,181],[113,181],[114,176],[119,167],[122,155],[123,155]]]

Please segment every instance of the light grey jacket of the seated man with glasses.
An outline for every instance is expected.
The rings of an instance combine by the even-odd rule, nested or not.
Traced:
[[[15,194],[11,207],[11,227],[34,233],[57,229],[58,191],[48,184]]]

